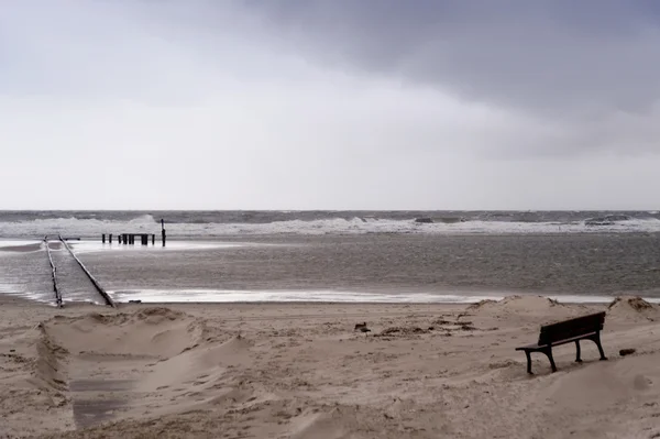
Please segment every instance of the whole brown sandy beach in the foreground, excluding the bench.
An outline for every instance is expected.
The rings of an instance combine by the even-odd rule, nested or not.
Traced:
[[[0,300],[0,437],[660,437],[660,308],[639,300]],[[514,349],[540,325],[596,310],[608,361],[586,341],[583,363],[568,344],[526,373]]]

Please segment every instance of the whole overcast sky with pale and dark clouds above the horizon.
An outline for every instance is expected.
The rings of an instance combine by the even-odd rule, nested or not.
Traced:
[[[0,0],[0,209],[658,209],[653,0]]]

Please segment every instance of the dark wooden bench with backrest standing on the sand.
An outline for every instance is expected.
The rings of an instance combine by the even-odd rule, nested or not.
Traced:
[[[575,361],[581,363],[580,340],[591,340],[596,343],[598,352],[601,352],[601,360],[607,360],[603,352],[603,345],[601,344],[601,331],[603,330],[604,323],[605,312],[598,312],[543,326],[541,327],[538,343],[516,348],[516,351],[525,351],[525,354],[527,355],[527,373],[532,373],[531,352],[541,352],[546,354],[548,360],[550,360],[552,372],[557,372],[557,366],[552,359],[552,348],[566,343],[575,343],[575,349],[578,350]]]

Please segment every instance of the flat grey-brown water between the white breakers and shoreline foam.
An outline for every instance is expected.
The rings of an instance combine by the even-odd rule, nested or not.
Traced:
[[[110,290],[528,292],[660,297],[660,234],[238,237],[242,245],[84,253]],[[75,245],[75,244],[74,244]]]

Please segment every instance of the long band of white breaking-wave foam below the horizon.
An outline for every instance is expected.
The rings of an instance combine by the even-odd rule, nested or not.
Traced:
[[[408,220],[354,218],[321,219],[312,221],[289,220],[268,223],[166,223],[172,238],[221,238],[231,235],[260,234],[362,234],[362,233],[430,233],[430,234],[534,234],[534,233],[630,233],[660,232],[660,220],[629,219],[605,226],[587,226],[584,221],[514,222],[514,221],[465,221],[455,223],[416,223]],[[0,237],[37,238],[51,235],[97,238],[101,233],[156,233],[161,224],[146,215],[130,221],[98,219],[54,218],[30,221],[0,222]]]

